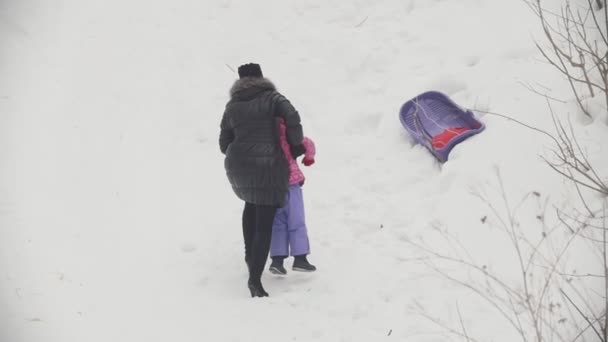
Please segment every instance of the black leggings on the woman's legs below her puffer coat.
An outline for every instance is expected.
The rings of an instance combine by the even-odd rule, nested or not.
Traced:
[[[270,250],[272,223],[276,212],[277,208],[274,206],[245,203],[243,210],[245,261],[249,265],[249,280],[254,283],[261,283]]]

